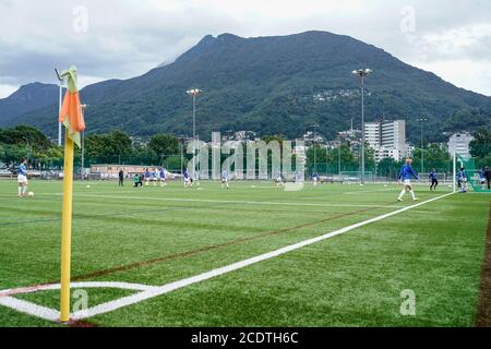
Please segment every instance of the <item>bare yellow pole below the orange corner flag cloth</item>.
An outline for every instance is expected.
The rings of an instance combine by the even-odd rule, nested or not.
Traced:
[[[73,140],[64,135],[63,208],[61,213],[60,321],[70,321],[70,260],[72,243]]]

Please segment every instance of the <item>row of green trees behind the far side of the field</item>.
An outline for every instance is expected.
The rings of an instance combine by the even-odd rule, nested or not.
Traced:
[[[476,167],[491,165],[491,131],[479,129],[474,132],[475,140],[470,143],[470,154],[475,157]],[[285,140],[280,135],[265,135],[262,141]],[[166,166],[169,169],[180,169],[190,159],[185,153],[183,140],[171,134],[155,134],[148,142],[135,142],[123,131],[89,134],[84,137],[84,167],[94,164],[147,165]],[[17,125],[11,129],[0,129],[0,163],[3,167],[12,167],[26,157],[31,168],[61,169],[63,148],[52,143],[43,132],[29,125]],[[439,172],[452,171],[452,159],[446,146],[428,144],[416,148],[412,155],[414,167],[420,170],[422,157],[424,172],[436,169]],[[81,166],[81,149],[75,151],[75,164]],[[375,163],[374,152],[366,147],[366,169],[378,176],[394,178],[397,176],[404,160],[396,161],[385,158]],[[354,151],[348,144],[337,148],[327,148],[316,144],[307,152],[306,168],[309,173],[335,174],[339,171],[358,171],[360,164],[359,151]],[[1,164],[0,164],[1,165]]]

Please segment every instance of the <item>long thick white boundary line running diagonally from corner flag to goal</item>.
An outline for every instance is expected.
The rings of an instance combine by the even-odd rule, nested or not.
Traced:
[[[342,228],[342,229],[338,229],[338,230],[325,233],[323,236],[320,236],[320,237],[316,237],[316,238],[313,238],[313,239],[308,239],[308,240],[304,240],[304,241],[301,241],[301,242],[298,242],[298,243],[295,243],[295,244],[291,244],[291,245],[288,245],[288,246],[285,246],[285,248],[272,251],[272,252],[267,252],[267,253],[264,253],[264,254],[261,254],[261,255],[258,255],[258,256],[244,260],[244,261],[240,261],[240,262],[227,265],[227,266],[218,267],[218,268],[212,269],[209,272],[205,272],[205,273],[202,273],[202,274],[199,274],[199,275],[185,278],[185,279],[181,279],[181,280],[173,281],[173,282],[170,282],[170,284],[166,284],[166,285],[163,285],[163,286],[156,286],[156,287],[154,287],[154,288],[152,288],[149,290],[142,291],[142,292],[139,292],[136,294],[123,297],[123,298],[120,298],[118,300],[109,301],[109,302],[106,302],[106,303],[103,303],[103,304],[89,308],[87,310],[84,310],[83,312],[75,312],[75,313],[72,314],[72,320],[79,321],[79,320],[88,318],[88,317],[93,317],[93,316],[96,316],[96,315],[105,314],[105,313],[108,313],[108,312],[112,312],[112,311],[116,311],[118,309],[121,309],[121,308],[124,308],[124,306],[128,306],[128,305],[140,303],[140,302],[142,302],[144,300],[147,300],[147,299],[152,299],[152,298],[165,294],[165,293],[169,293],[169,292],[171,292],[173,290],[181,289],[181,288],[184,288],[184,287],[190,286],[190,285],[194,285],[194,284],[197,284],[197,282],[201,282],[201,281],[204,281],[204,280],[208,280],[208,279],[215,278],[217,276],[221,276],[221,275],[228,274],[230,272],[242,269],[242,268],[244,268],[247,266],[250,266],[250,265],[263,262],[263,261],[267,261],[267,260],[274,258],[274,257],[279,256],[282,254],[302,249],[304,246],[308,246],[308,245],[311,245],[311,244],[314,244],[314,243],[318,243],[318,242],[331,239],[333,237],[343,234],[343,233],[351,231],[354,229],[357,229],[357,228],[360,228],[360,227],[363,227],[363,226],[367,226],[367,225],[370,225],[370,224],[373,224],[373,222],[376,222],[376,221],[390,218],[392,216],[405,213],[405,212],[407,212],[409,209],[412,209],[412,208],[416,208],[416,207],[420,207],[422,205],[429,204],[429,203],[434,202],[436,200],[441,200],[441,198],[447,197],[447,196],[450,196],[452,194],[454,194],[454,193],[447,193],[447,194],[444,194],[444,195],[440,195],[440,196],[427,200],[424,202],[421,202],[421,203],[418,203],[418,204],[415,204],[415,205],[410,205],[410,206],[406,206],[404,208],[391,212],[388,214],[384,214],[384,215],[381,215],[381,216],[378,216],[378,217],[374,217],[374,218],[371,218],[371,219],[368,219],[368,220],[363,220],[363,221],[354,224],[351,226],[348,226],[348,227],[345,227],[345,228]]]

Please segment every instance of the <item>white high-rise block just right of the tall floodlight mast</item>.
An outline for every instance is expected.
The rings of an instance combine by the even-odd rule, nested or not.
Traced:
[[[406,151],[406,121],[367,122],[364,124],[364,139],[375,151],[375,160],[392,157],[396,161],[407,156]]]

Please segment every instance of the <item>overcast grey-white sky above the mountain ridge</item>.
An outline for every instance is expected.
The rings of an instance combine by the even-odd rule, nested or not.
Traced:
[[[350,35],[491,96],[489,0],[0,0],[0,98],[55,83],[128,79],[171,62],[206,34]]]

